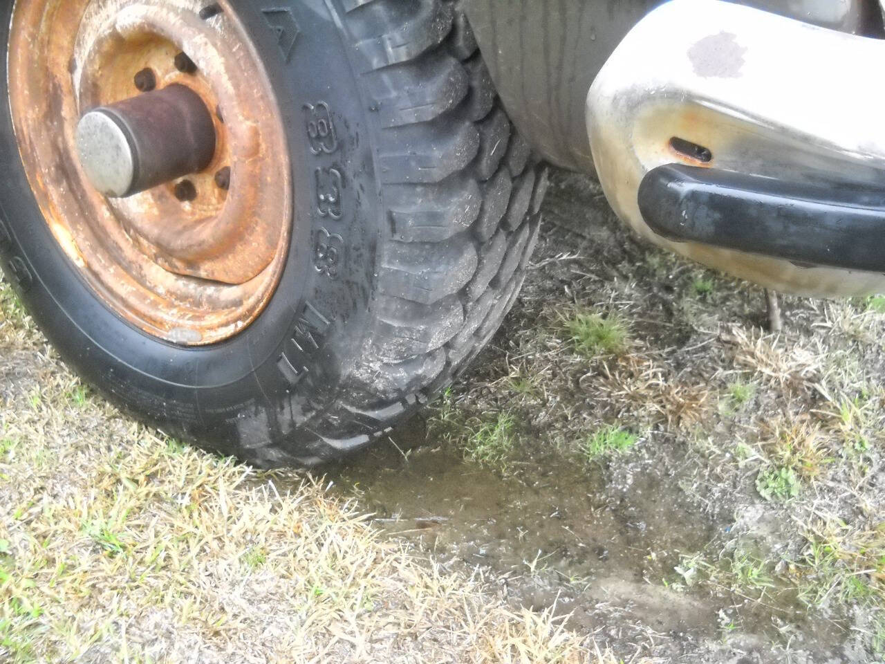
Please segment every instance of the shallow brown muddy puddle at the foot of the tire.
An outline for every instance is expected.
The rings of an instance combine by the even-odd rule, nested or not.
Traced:
[[[356,495],[389,535],[417,542],[446,567],[490,572],[514,606],[556,606],[572,629],[623,656],[724,661],[723,650],[738,644],[755,653],[746,661],[780,661],[772,648],[790,637],[832,643],[823,635],[835,627],[811,622],[789,592],[759,602],[680,583],[683,554],[709,549],[733,521],[689,498],[680,488],[689,471],[661,452],[611,467],[551,454],[504,476],[428,440],[423,422],[412,421],[327,480]],[[783,633],[788,622],[796,633]]]

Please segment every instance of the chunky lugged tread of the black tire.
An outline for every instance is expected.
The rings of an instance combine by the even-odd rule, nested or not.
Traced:
[[[540,215],[525,220],[543,197],[460,2],[343,7],[378,120],[389,234],[370,347],[329,418],[353,435],[319,432],[312,459],[370,444],[463,371],[521,286]]]

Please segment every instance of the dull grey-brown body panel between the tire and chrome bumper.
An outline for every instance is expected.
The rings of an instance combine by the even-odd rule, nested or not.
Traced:
[[[467,0],[498,94],[551,163],[593,173],[585,120],[590,85],[627,32],[661,0]],[[876,0],[743,2],[854,34],[881,30]],[[673,34],[678,40],[680,35]]]

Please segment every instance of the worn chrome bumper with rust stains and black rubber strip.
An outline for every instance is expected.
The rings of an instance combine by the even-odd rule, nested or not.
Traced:
[[[589,91],[609,202],[652,242],[768,288],[885,292],[883,58],[883,41],[736,4],[662,5]]]

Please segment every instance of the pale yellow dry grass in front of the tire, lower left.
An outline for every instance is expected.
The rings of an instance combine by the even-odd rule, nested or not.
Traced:
[[[381,538],[322,481],[127,421],[5,304],[0,349],[0,660],[596,659],[554,610]]]

